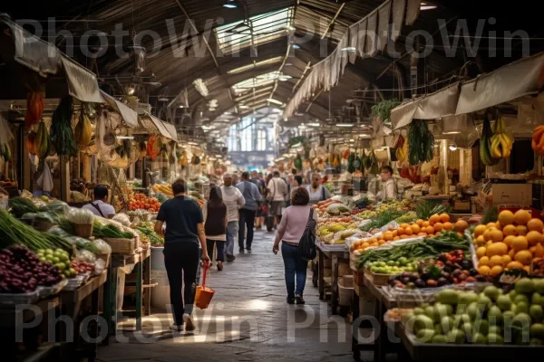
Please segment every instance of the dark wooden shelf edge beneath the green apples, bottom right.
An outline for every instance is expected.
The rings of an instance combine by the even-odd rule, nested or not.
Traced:
[[[419,343],[406,332],[402,323],[394,323],[394,330],[414,361],[435,361],[437,356],[452,356],[452,360],[456,361],[477,356],[513,361],[524,357],[541,357],[544,354],[544,346]]]

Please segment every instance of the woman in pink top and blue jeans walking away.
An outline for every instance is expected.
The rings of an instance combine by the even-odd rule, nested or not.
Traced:
[[[310,196],[305,187],[296,187],[291,192],[291,206],[287,207],[277,228],[272,251],[277,254],[281,243],[284,260],[287,303],[304,304],[307,262],[298,254],[298,243],[304,234],[310,213],[317,220],[317,213],[308,205]]]

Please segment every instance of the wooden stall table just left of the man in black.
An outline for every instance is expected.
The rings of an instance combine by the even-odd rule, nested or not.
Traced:
[[[112,254],[104,289],[104,314],[109,322],[110,335],[117,331],[117,268],[128,265],[134,265],[132,272],[136,272],[136,330],[141,330],[142,315],[151,314],[151,249],[143,249],[130,255]]]

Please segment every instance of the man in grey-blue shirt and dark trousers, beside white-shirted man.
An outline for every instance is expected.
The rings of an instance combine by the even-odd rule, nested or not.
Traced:
[[[239,230],[238,230],[238,246],[240,252],[244,252],[244,235],[246,227],[248,227],[248,239],[246,241],[246,250],[251,252],[251,244],[253,243],[253,226],[255,225],[255,216],[257,208],[261,201],[261,195],[258,192],[257,186],[249,181],[249,173],[242,173],[242,181],[237,185],[238,190],[242,193],[245,200],[245,205],[240,209],[239,213]]]

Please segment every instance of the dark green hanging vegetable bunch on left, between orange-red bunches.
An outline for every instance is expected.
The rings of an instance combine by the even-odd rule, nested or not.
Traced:
[[[51,141],[59,156],[74,157],[77,145],[72,130],[73,101],[71,96],[64,97],[53,113],[51,122]]]

